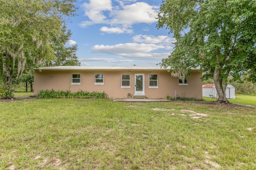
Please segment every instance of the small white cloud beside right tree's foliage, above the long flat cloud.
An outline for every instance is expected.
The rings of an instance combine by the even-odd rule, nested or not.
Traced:
[[[168,36],[151,36],[151,35],[136,35],[132,37],[134,42],[140,43],[157,43],[157,44],[172,44],[176,42],[175,38],[170,38]]]

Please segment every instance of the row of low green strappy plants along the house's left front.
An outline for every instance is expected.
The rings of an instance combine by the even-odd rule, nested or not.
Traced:
[[[84,97],[96,97],[97,99],[102,99],[102,98],[106,98],[106,93],[105,92],[88,92],[88,91],[77,91],[75,93],[71,93],[71,91],[66,90],[66,91],[54,91],[54,89],[52,90],[41,90],[39,91],[39,93],[37,93],[36,95],[37,98],[57,98],[57,97],[68,97],[68,98],[72,98],[72,97],[80,97],[80,98],[84,98]]]

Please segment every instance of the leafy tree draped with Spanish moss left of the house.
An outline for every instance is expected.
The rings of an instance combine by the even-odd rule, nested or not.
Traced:
[[[58,37],[75,0],[0,0],[1,77],[11,89],[26,64],[55,59],[52,38]],[[32,62],[27,62],[32,61]]]

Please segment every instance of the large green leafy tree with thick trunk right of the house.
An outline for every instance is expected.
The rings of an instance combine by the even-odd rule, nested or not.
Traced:
[[[255,18],[255,0],[164,0],[157,27],[170,29],[176,42],[160,65],[176,76],[200,67],[203,80],[214,79],[218,101],[229,103],[229,76],[236,81],[247,72],[256,81]]]

